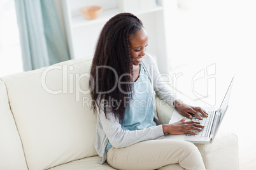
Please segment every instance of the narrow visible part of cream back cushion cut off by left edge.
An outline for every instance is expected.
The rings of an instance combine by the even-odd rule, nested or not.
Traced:
[[[6,86],[0,80],[0,169],[27,169],[20,136],[10,110]]]

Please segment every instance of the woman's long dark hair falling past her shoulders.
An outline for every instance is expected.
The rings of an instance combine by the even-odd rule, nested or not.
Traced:
[[[110,102],[104,105],[106,118],[107,112],[112,112],[119,121],[124,121],[125,108],[132,99],[133,88],[133,83],[129,83],[132,82],[129,40],[142,28],[143,23],[137,16],[120,13],[110,18],[101,30],[90,69],[93,79],[90,79],[89,86],[94,111],[102,101],[120,102],[120,105],[111,105]],[[118,79],[126,83],[117,86]]]

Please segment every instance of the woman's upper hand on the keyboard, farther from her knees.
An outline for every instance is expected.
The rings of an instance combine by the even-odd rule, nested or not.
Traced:
[[[188,117],[189,119],[192,119],[192,114],[196,115],[199,119],[203,119],[198,112],[200,112],[204,117],[208,117],[208,114],[205,110],[201,107],[192,107],[190,105],[187,105],[183,103],[181,100],[175,100],[174,106],[177,108],[178,112],[181,115],[185,115],[185,117]]]

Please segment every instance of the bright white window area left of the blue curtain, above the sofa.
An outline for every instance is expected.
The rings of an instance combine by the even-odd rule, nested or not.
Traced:
[[[22,53],[14,0],[0,1],[0,77],[22,72]]]

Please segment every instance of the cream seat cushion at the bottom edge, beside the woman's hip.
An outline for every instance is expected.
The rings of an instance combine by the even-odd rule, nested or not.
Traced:
[[[109,166],[108,164],[97,164],[97,161],[101,160],[101,157],[94,156],[94,157],[87,157],[85,159],[75,160],[72,162],[68,162],[67,164],[63,164],[60,166],[52,167],[48,170],[108,170],[113,169],[113,167]]]

